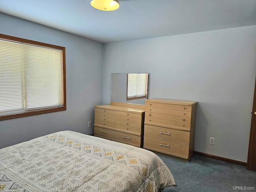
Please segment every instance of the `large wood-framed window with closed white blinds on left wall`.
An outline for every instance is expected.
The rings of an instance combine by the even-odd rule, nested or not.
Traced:
[[[65,48],[0,34],[0,120],[62,110]]]

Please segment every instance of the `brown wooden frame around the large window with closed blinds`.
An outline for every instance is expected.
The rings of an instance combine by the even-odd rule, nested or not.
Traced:
[[[6,40],[12,40],[12,41],[16,41],[16,42],[22,42],[22,43],[26,43],[26,44],[32,44],[32,45],[62,50],[62,58],[63,58],[63,63],[62,63],[63,64],[63,106],[62,107],[49,108],[49,109],[45,108],[45,109],[36,110],[36,111],[28,111],[28,112],[22,112],[22,113],[17,113],[17,114],[8,114],[5,116],[0,116],[0,120],[8,120],[8,119],[13,119],[13,118],[20,118],[20,117],[25,117],[25,116],[46,114],[46,113],[66,110],[66,53],[65,53],[65,47],[42,43],[42,42],[37,42],[37,41],[33,41],[33,40],[27,40],[27,39],[23,39],[23,38],[14,37],[14,36],[8,36],[8,35],[4,35],[4,34],[0,34],[0,38],[6,39]]]

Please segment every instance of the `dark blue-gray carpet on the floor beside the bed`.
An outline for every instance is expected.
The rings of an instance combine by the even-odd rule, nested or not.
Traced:
[[[256,192],[256,172],[247,170],[246,166],[196,154],[190,162],[184,162],[155,153],[171,170],[177,183],[176,187],[163,192]]]

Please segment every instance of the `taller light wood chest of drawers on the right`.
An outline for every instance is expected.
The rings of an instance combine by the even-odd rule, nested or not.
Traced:
[[[196,104],[146,100],[143,148],[190,160],[194,150]]]

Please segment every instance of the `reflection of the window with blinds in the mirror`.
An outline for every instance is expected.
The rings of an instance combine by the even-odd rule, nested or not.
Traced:
[[[127,74],[126,100],[147,98],[148,74]]]

